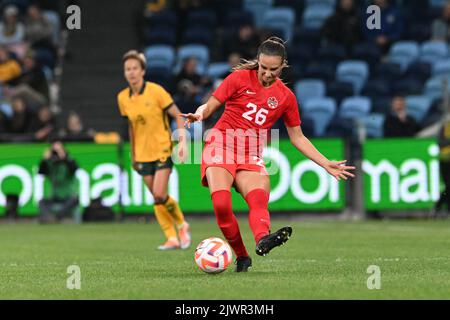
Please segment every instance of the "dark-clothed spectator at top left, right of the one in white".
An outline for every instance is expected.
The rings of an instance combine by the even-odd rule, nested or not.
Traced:
[[[50,46],[52,42],[53,26],[41,12],[37,5],[31,5],[27,9],[25,18],[25,40],[30,44],[44,43]]]

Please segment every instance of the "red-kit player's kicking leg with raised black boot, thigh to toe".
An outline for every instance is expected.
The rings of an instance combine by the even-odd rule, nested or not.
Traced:
[[[292,228],[284,227],[270,233],[270,180],[267,175],[242,170],[236,174],[236,185],[249,206],[249,224],[255,238],[256,253],[264,256],[284,244],[291,236]]]

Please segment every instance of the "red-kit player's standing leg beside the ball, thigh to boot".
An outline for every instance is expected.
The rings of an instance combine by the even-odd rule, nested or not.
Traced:
[[[251,259],[242,241],[239,225],[231,207],[230,188],[234,178],[224,168],[209,167],[206,169],[206,179],[217,223],[237,257],[236,272],[245,272],[251,266]]]

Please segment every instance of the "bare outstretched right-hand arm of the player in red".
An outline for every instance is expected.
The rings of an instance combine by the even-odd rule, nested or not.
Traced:
[[[341,178],[347,180],[348,177],[354,177],[355,175],[350,173],[349,170],[354,170],[353,166],[346,166],[347,160],[342,161],[330,161],[324,157],[314,145],[303,134],[300,126],[287,127],[289,138],[291,143],[306,157],[323,167],[329,174],[335,177],[337,180]]]

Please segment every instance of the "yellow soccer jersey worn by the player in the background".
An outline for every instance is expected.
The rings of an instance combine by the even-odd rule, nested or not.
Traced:
[[[138,96],[126,88],[117,95],[120,114],[127,117],[134,139],[134,161],[165,161],[172,153],[167,108],[173,104],[170,94],[160,85],[144,82]]]

